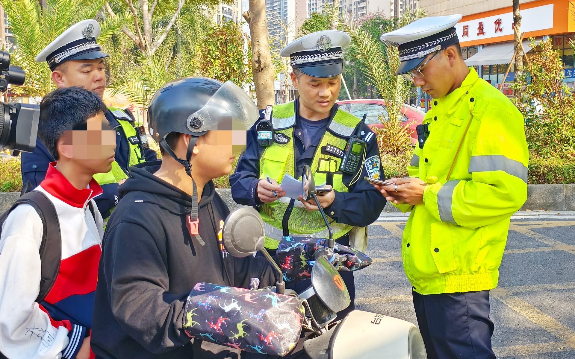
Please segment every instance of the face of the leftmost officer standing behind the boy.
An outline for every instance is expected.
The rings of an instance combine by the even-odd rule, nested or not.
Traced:
[[[104,59],[68,60],[52,72],[52,79],[59,88],[80,86],[102,98],[106,88]]]

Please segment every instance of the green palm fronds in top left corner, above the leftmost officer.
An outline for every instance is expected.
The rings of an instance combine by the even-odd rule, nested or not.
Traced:
[[[113,43],[109,40],[121,30],[127,17],[104,18],[104,3],[104,0],[45,0],[45,7],[40,7],[36,0],[0,0],[17,42],[11,64],[21,66],[26,72],[24,86],[13,87],[13,91],[41,97],[55,88],[48,64],[36,63],[36,56],[76,22],[99,20],[102,32],[98,43],[104,51],[110,51]]]

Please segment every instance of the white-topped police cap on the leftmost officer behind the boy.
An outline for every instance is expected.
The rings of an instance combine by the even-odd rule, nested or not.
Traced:
[[[64,31],[56,40],[45,47],[36,62],[46,61],[50,70],[66,60],[93,60],[108,57],[96,42],[100,24],[95,20],[80,21]]]

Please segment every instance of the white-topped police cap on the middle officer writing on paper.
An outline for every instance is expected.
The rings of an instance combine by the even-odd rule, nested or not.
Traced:
[[[297,38],[279,52],[290,57],[292,67],[315,78],[331,78],[343,72],[343,49],[351,38],[338,30],[324,30]]]

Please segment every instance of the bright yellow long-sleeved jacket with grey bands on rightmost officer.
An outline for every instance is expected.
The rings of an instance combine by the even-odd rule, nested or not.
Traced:
[[[511,215],[527,199],[523,117],[469,70],[425,115],[430,136],[408,167],[409,176],[427,183],[423,204],[397,206],[411,211],[401,257],[420,294],[495,288]]]

